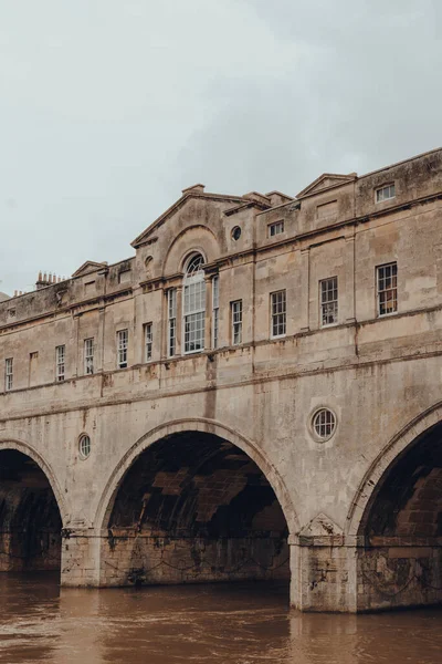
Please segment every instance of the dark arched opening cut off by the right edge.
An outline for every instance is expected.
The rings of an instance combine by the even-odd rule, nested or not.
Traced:
[[[442,423],[387,467],[358,535],[360,609],[442,602]]]

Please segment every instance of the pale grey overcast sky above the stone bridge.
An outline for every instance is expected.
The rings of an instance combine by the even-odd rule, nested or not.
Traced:
[[[181,189],[442,145],[441,0],[0,0],[0,291],[115,262]]]

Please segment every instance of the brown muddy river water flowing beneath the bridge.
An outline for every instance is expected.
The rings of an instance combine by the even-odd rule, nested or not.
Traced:
[[[441,664],[442,611],[302,614],[264,583],[76,590],[0,574],[7,664]]]

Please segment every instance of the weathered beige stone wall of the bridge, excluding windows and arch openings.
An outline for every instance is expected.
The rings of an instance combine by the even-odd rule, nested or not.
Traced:
[[[364,587],[359,605],[378,606],[373,591],[358,582],[362,568],[375,564],[372,554],[364,558],[360,542],[345,538],[372,464],[403,427],[442,402],[441,163],[435,151],[360,178],[330,176],[298,200],[267,209],[197,187],[137,238],[134,258],[0,303],[0,366],[14,359],[13,390],[0,394],[0,444],[36,450],[63,496],[64,583],[103,582],[104,516],[118,474],[146,440],[197,422],[209,433],[219,427],[265,468],[290,530],[293,603],[356,610]],[[396,198],[376,204],[376,187],[390,181]],[[284,232],[270,238],[269,224],[278,219]],[[242,229],[236,241],[235,226]],[[194,250],[206,257],[208,292],[219,273],[220,344],[168,357],[166,292],[181,288],[183,261]],[[376,267],[392,261],[398,311],[379,318]],[[335,276],[338,322],[320,328],[319,281]],[[270,297],[281,289],[286,335],[273,341]],[[234,347],[230,302],[236,299],[243,343]],[[207,315],[210,323],[210,307]],[[151,362],[144,357],[147,322],[154,324]],[[122,329],[129,334],[128,369],[117,370]],[[83,345],[91,336],[95,373],[86,376]],[[57,384],[60,344],[66,345],[66,380]],[[38,371],[31,371],[35,352]],[[317,442],[311,417],[323,406],[335,412],[337,429]],[[82,433],[92,440],[85,460]],[[333,552],[318,515],[338,538]]]

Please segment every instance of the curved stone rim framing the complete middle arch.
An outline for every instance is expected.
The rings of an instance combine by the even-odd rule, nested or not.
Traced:
[[[114,507],[115,498],[122,481],[127,470],[133,466],[134,461],[151,445],[173,434],[185,434],[186,432],[194,430],[206,434],[212,434],[219,438],[231,443],[246,454],[260,468],[264,477],[272,487],[281,509],[284,513],[288,536],[293,536],[299,530],[299,522],[295,512],[292,497],[281,475],[275,467],[269,461],[263,450],[254,443],[245,438],[245,436],[236,433],[232,428],[222,425],[213,419],[206,418],[186,418],[176,419],[167,424],[159,425],[141,436],[123,456],[106,483],[102,498],[99,500],[94,522],[96,530],[103,532],[107,528],[107,523]]]

